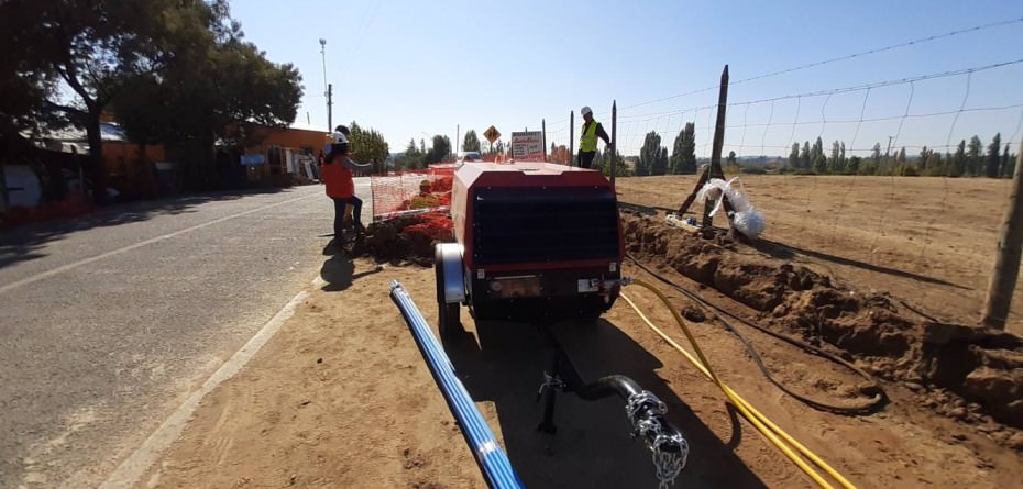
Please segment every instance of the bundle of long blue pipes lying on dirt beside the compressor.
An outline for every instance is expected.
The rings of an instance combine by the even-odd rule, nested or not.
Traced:
[[[454,367],[440,343],[437,342],[437,337],[433,336],[426,318],[397,280],[391,284],[391,299],[402,311],[413,337],[416,338],[416,345],[422,358],[426,359],[430,374],[433,375],[437,387],[440,388],[448,408],[451,409],[451,413],[462,427],[465,443],[469,444],[473,457],[476,458],[476,464],[487,486],[494,489],[525,487],[515,474],[515,469],[512,468],[508,455],[497,444],[497,438],[494,437],[486,420],[483,419],[483,414],[476,409],[476,403],[465,390],[465,386],[454,375]]]

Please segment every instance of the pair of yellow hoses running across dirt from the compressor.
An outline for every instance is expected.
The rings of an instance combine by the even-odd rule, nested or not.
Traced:
[[[693,336],[693,334],[689,330],[689,326],[685,324],[685,321],[682,319],[681,315],[679,315],[679,312],[675,310],[675,308],[671,305],[671,302],[660,290],[658,290],[656,287],[642,280],[636,280],[634,284],[637,286],[644,287],[650,290],[651,292],[653,292],[658,297],[658,299],[660,299],[661,302],[663,302],[664,305],[668,307],[668,310],[671,311],[671,314],[675,319],[675,322],[679,323],[679,326],[682,329],[682,332],[685,334],[686,340],[689,340],[690,344],[693,345],[693,349],[696,352],[696,356],[698,358],[693,357],[691,353],[689,353],[685,348],[683,348],[681,345],[675,343],[674,340],[668,336],[663,331],[657,327],[639,310],[639,308],[636,307],[636,303],[632,302],[628,297],[626,297],[623,293],[622,298],[625,299],[626,302],[628,302],[628,304],[636,311],[637,314],[639,314],[639,318],[648,326],[650,326],[650,329],[657,332],[657,334],[659,334],[662,338],[664,338],[664,341],[668,342],[671,346],[673,346],[675,349],[682,353],[682,355],[684,355],[700,371],[702,371],[703,375],[705,375],[708,379],[711,379],[711,381],[717,385],[717,387],[722,390],[725,397],[728,398],[732,404],[735,405],[736,409],[738,409],[739,412],[743,414],[743,416],[746,418],[750,423],[752,423],[754,426],[757,429],[757,431],[763,434],[768,438],[768,441],[771,442],[771,444],[778,447],[778,449],[780,449],[787,457],[789,457],[789,459],[791,459],[801,470],[803,470],[803,473],[805,473],[811,479],[813,479],[813,481],[816,482],[820,487],[833,489],[833,486],[823,476],[821,476],[821,474],[814,470],[814,468],[811,467],[810,464],[807,464],[803,458],[800,457],[799,454],[795,453],[796,451],[800,454],[802,454],[804,457],[813,462],[814,465],[816,465],[822,470],[824,470],[829,476],[832,476],[836,481],[838,481],[838,484],[842,487],[846,489],[856,488],[856,486],[854,486],[853,482],[849,482],[848,479],[846,479],[842,474],[839,474],[837,470],[832,468],[832,466],[829,466],[826,462],[824,462],[820,456],[811,452],[803,444],[801,444],[799,441],[796,441],[791,435],[785,433],[777,424],[771,422],[771,420],[765,416],[760,411],[754,408],[752,404],[747,402],[746,399],[744,399],[738,393],[736,393],[734,390],[732,390],[730,387],[728,387],[725,382],[721,380],[721,378],[717,377],[717,374],[715,374],[714,369],[711,367],[711,363],[707,360],[706,356],[703,354],[703,351],[700,348],[700,344],[696,343],[696,338]]]

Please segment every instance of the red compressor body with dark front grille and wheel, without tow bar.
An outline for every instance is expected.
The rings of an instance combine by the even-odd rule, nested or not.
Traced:
[[[620,290],[624,237],[614,188],[594,170],[466,162],[454,173],[455,243],[437,246],[439,330],[476,320],[594,321]]]

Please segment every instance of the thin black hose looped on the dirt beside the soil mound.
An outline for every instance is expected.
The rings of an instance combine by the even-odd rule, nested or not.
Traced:
[[[778,387],[782,392],[784,392],[784,393],[787,393],[787,394],[789,394],[789,396],[792,396],[792,398],[799,400],[800,402],[802,402],[802,403],[804,403],[804,404],[806,404],[806,405],[810,405],[811,408],[818,409],[818,410],[822,410],[822,411],[829,411],[829,412],[834,412],[834,413],[837,413],[837,414],[845,414],[845,415],[871,413],[871,412],[875,412],[876,410],[878,410],[879,408],[881,408],[881,407],[884,404],[884,402],[886,402],[888,396],[884,393],[884,390],[881,388],[881,386],[878,385],[877,380],[875,380],[873,376],[871,376],[870,374],[868,374],[868,373],[865,371],[864,369],[857,367],[856,365],[853,365],[851,363],[847,362],[845,358],[842,358],[842,357],[839,357],[839,356],[837,356],[837,355],[834,355],[834,354],[832,354],[832,353],[829,353],[829,352],[825,352],[824,349],[822,349],[822,348],[820,348],[820,347],[816,347],[816,346],[814,346],[814,345],[807,344],[807,343],[805,343],[805,342],[802,342],[802,341],[799,341],[799,340],[795,340],[795,338],[785,336],[785,335],[780,334],[780,333],[776,333],[776,332],[773,332],[773,331],[771,331],[771,330],[768,330],[767,327],[763,327],[763,326],[761,326],[761,325],[759,325],[759,324],[756,324],[756,323],[754,323],[754,322],[751,322],[751,321],[749,321],[749,320],[747,320],[747,319],[745,319],[745,318],[741,318],[741,316],[739,316],[739,315],[733,314],[733,313],[730,313],[730,312],[728,312],[728,311],[726,311],[726,310],[724,310],[724,309],[722,309],[722,308],[719,308],[719,307],[717,307],[717,305],[715,305],[715,304],[708,302],[706,299],[700,297],[698,294],[696,294],[696,293],[694,293],[694,292],[691,292],[691,291],[689,291],[689,290],[685,290],[684,288],[682,288],[682,286],[680,286],[680,285],[678,285],[678,284],[671,281],[670,279],[666,278],[666,277],[662,276],[661,274],[658,274],[657,271],[650,269],[650,267],[644,265],[640,260],[638,260],[638,259],[637,259],[635,256],[632,256],[631,254],[627,253],[626,256],[627,256],[630,260],[632,260],[632,263],[635,263],[639,268],[642,268],[646,273],[650,274],[651,276],[653,276],[653,277],[657,278],[658,280],[660,280],[660,281],[664,282],[666,285],[670,286],[671,288],[678,290],[680,293],[682,293],[683,296],[685,296],[685,297],[689,298],[690,300],[692,300],[692,301],[694,301],[694,302],[696,302],[696,303],[698,303],[698,304],[701,304],[701,305],[703,305],[703,307],[705,307],[705,308],[712,309],[712,310],[714,310],[715,312],[717,312],[717,313],[718,313],[718,314],[717,314],[717,321],[719,321],[719,322],[725,326],[725,330],[727,330],[728,332],[730,332],[732,334],[736,335],[736,337],[739,338],[739,342],[743,343],[743,345],[746,347],[746,351],[749,353],[750,357],[752,357],[754,363],[757,364],[757,368],[760,369],[760,371],[763,374],[763,376],[768,379],[769,382],[773,384],[773,385],[774,385],[776,387]],[[790,345],[793,345],[793,346],[795,346],[795,347],[798,347],[798,348],[803,349],[804,352],[807,352],[807,353],[813,354],[813,355],[817,355],[817,356],[820,356],[820,357],[822,357],[822,358],[828,359],[828,360],[831,360],[831,362],[833,362],[833,363],[835,363],[835,364],[838,364],[838,365],[842,365],[843,367],[846,367],[847,369],[849,369],[849,370],[856,373],[857,375],[859,375],[860,377],[867,379],[867,380],[870,382],[870,385],[869,385],[866,389],[864,389],[864,390],[865,390],[865,391],[873,392],[873,397],[872,397],[869,401],[867,401],[866,403],[864,403],[864,404],[860,404],[860,405],[851,405],[851,407],[850,407],[850,405],[836,405],[836,404],[831,404],[831,403],[827,403],[827,402],[817,401],[817,400],[807,398],[807,397],[805,397],[805,396],[803,396],[803,394],[800,394],[800,393],[798,393],[798,392],[793,392],[791,389],[789,389],[789,388],[785,387],[783,384],[781,384],[778,379],[776,379],[773,375],[771,375],[771,371],[770,371],[770,370],[767,368],[767,366],[763,364],[763,359],[760,357],[759,352],[757,352],[757,349],[754,347],[754,345],[752,345],[741,333],[739,333],[738,330],[736,330],[730,323],[728,323],[727,321],[725,321],[725,319],[724,319],[723,316],[732,318],[733,320],[738,321],[739,323],[743,323],[743,324],[745,324],[745,325],[747,325],[747,326],[749,326],[749,327],[752,327],[752,329],[755,329],[755,330],[757,330],[757,331],[759,331],[759,332],[761,332],[761,333],[765,333],[765,334],[767,334],[767,335],[769,335],[769,336],[771,336],[771,337],[774,337],[774,338],[777,338],[777,340],[781,340],[781,341],[783,341],[783,342],[785,342],[785,343],[788,343],[788,344],[790,344]]]

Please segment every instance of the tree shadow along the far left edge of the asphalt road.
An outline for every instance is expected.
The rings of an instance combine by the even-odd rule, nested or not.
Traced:
[[[46,244],[63,240],[65,235],[75,232],[142,222],[157,215],[196,212],[194,208],[207,202],[237,200],[261,193],[279,193],[283,190],[280,188],[248,189],[132,202],[100,208],[96,212],[74,219],[0,230],[0,268],[19,262],[42,258],[47,255],[44,251]]]

